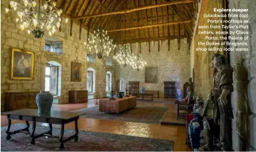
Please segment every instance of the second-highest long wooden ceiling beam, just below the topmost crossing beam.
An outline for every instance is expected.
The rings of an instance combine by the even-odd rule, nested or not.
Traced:
[[[126,30],[153,28],[153,27],[157,27],[157,26],[167,26],[167,25],[183,24],[183,23],[190,23],[190,22],[192,22],[192,20],[189,19],[189,20],[181,20],[181,21],[175,21],[175,22],[166,22],[166,23],[152,24],[152,25],[148,25],[148,26],[138,26],[138,27],[126,28]],[[118,32],[118,31],[124,31],[124,28],[108,30],[108,32]]]

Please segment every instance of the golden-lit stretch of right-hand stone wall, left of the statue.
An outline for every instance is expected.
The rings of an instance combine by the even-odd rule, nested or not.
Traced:
[[[222,8],[222,0],[214,0],[214,1],[208,1],[208,0],[202,0],[202,4],[200,7],[200,16],[198,19],[198,26],[221,26],[220,23],[211,23],[209,24],[207,22],[208,18],[204,18],[204,14],[214,14],[214,8],[221,9]],[[216,13],[218,14],[218,13]],[[219,13],[221,14],[221,13]],[[219,19],[219,18],[211,18]],[[221,47],[221,46],[212,46],[212,45],[198,45],[198,41],[206,43],[206,41],[210,42],[222,42],[222,40],[206,40],[206,36],[212,36],[212,35],[206,35],[206,34],[198,34],[198,32],[202,32],[204,30],[210,31],[210,32],[217,32],[222,31],[222,29],[198,29],[195,28],[195,36],[194,36],[194,93],[196,96],[200,97],[201,99],[205,100],[208,96],[208,93],[210,93],[210,90],[212,89],[212,55],[214,53],[217,53],[216,51],[196,51],[196,48],[211,48],[211,47]],[[219,36],[214,34],[214,36]],[[191,46],[193,47],[193,46]]]

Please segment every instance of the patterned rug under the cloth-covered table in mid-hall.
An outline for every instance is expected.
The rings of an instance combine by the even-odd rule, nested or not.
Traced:
[[[148,124],[159,124],[167,107],[153,107],[137,105],[134,109],[128,109],[122,113],[100,113],[99,107],[91,107],[85,109],[79,109],[72,112],[86,113],[80,117],[95,118],[95,119],[107,119],[107,120],[119,120],[128,122],[142,122]]]

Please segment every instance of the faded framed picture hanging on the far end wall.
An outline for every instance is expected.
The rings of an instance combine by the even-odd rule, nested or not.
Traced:
[[[145,68],[145,83],[157,83],[157,68],[146,67]]]

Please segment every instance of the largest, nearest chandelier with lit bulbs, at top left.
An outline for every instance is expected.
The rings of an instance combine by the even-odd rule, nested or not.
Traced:
[[[22,0],[21,3],[10,1],[9,8],[5,12],[13,12],[17,15],[16,22],[21,24],[21,30],[28,34],[32,32],[35,38],[42,38],[45,32],[52,36],[56,27],[60,28],[62,20],[68,22],[68,18],[61,16],[62,9],[56,8],[56,2],[51,0]]]

